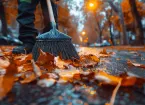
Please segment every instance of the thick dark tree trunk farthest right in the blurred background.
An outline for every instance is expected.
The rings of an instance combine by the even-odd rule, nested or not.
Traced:
[[[137,11],[136,0],[129,0],[132,15],[135,21],[135,31],[136,31],[136,45],[144,45],[144,32],[141,22],[141,16]]]

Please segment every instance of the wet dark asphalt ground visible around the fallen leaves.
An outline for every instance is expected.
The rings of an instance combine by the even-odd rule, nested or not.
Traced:
[[[95,53],[102,48],[78,48],[81,53]],[[98,70],[105,70],[112,75],[119,75],[122,72],[130,71],[133,74],[145,77],[145,69],[127,65],[127,60],[145,64],[144,51],[125,51],[108,49],[114,52],[111,57],[101,58],[103,62],[96,67]],[[12,91],[0,101],[0,105],[104,105],[109,102],[113,86],[98,86],[95,82],[83,81],[79,84],[55,84],[50,88],[41,88],[34,83],[15,83]],[[120,88],[117,94],[115,105],[145,105],[144,88],[136,86]]]

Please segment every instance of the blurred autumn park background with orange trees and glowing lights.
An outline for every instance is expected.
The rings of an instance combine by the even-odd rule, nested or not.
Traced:
[[[75,45],[117,46],[145,44],[145,0],[60,0],[59,30]],[[0,1],[0,44],[21,43],[18,37],[17,0]],[[41,6],[35,26],[44,28]]]

